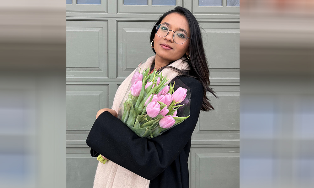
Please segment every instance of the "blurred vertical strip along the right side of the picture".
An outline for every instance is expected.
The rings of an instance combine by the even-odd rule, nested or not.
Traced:
[[[313,187],[314,1],[240,3],[240,187]]]

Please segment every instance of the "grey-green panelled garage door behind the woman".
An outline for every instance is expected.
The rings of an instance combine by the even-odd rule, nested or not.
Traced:
[[[67,188],[92,188],[98,161],[85,140],[96,112],[111,108],[119,84],[154,55],[149,33],[175,6],[203,28],[220,97],[208,94],[216,110],[201,112],[192,135],[190,187],[239,187],[239,0],[67,0]]]

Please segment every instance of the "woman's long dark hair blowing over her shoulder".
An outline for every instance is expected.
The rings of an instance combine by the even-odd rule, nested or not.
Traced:
[[[182,75],[191,76],[193,78],[196,78],[198,81],[200,81],[203,84],[204,87],[204,97],[203,97],[203,103],[201,110],[203,111],[211,111],[214,110],[214,107],[210,103],[210,99],[208,99],[206,92],[209,91],[211,94],[213,94],[216,98],[218,96],[216,95],[215,91],[209,87],[210,81],[209,81],[209,68],[207,64],[207,59],[203,47],[203,40],[201,35],[201,29],[198,25],[198,21],[193,16],[193,14],[183,7],[175,7],[173,10],[170,10],[158,19],[155,26],[153,27],[153,30],[150,34],[150,41],[154,40],[155,34],[156,34],[156,25],[159,25],[161,21],[171,13],[179,13],[182,16],[185,16],[187,18],[187,21],[189,23],[190,31],[191,31],[191,40],[190,45],[188,48],[190,60],[187,59],[187,55],[184,55],[184,61],[186,61],[189,65],[191,70],[180,70],[176,67],[168,66],[171,63],[169,63],[167,66],[163,66],[158,71],[161,71],[165,68],[170,68],[176,72],[181,73]],[[154,48],[152,48],[154,53],[156,54]]]

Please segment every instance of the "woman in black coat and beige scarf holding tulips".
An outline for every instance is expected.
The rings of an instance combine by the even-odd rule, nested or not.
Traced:
[[[150,41],[156,55],[141,66],[150,65],[151,71],[161,71],[167,79],[170,78],[168,83],[177,77],[190,87],[190,117],[155,138],[140,138],[133,133],[116,117],[134,70],[119,86],[112,109],[104,108],[97,112],[86,140],[93,157],[101,154],[109,159],[106,164],[99,162],[94,188],[189,187],[187,159],[191,136],[200,110],[214,110],[206,92],[217,97],[209,87],[201,31],[189,10],[176,7],[159,18]]]

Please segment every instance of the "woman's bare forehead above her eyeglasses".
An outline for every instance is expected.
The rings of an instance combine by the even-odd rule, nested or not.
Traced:
[[[160,24],[165,24],[171,29],[179,30],[181,28],[185,29],[187,32],[190,32],[187,18],[178,13],[168,14],[164,19],[161,20]]]

